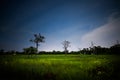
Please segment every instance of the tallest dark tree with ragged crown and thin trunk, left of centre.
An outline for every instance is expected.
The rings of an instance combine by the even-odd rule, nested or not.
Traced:
[[[37,52],[38,52],[39,43],[45,42],[45,37],[42,36],[40,33],[39,34],[34,34],[34,37],[35,38],[31,39],[30,41],[34,42],[36,44],[36,49],[37,49]]]

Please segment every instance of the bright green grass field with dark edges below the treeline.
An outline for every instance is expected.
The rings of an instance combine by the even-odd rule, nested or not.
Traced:
[[[118,80],[115,55],[1,55],[0,80]]]

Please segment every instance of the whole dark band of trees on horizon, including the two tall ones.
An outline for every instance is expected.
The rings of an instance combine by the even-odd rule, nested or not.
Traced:
[[[45,51],[40,51],[38,52],[38,46],[39,43],[45,42],[45,37],[42,36],[40,33],[39,34],[34,34],[34,39],[31,39],[31,42],[34,42],[36,44],[36,48],[35,47],[29,47],[29,48],[23,48],[23,52],[18,52],[18,51],[7,51],[5,52],[4,49],[0,50],[0,55],[7,55],[7,54],[35,54],[35,53],[40,53],[41,54],[87,54],[87,55],[101,55],[101,54],[113,54],[113,55],[119,55],[120,54],[120,44],[119,41],[117,40],[117,43],[113,46],[111,46],[110,48],[106,48],[106,47],[101,47],[101,46],[94,46],[94,43],[91,42],[91,47],[89,48],[83,48],[80,49],[79,51],[68,51],[68,47],[70,47],[70,42],[69,41],[63,41],[62,45],[64,48],[64,51],[55,51],[53,50],[53,52],[45,52]]]

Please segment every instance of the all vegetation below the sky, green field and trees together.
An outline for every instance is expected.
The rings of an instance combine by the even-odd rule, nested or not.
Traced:
[[[38,52],[45,37],[34,37],[30,41],[36,47],[23,48],[23,52],[0,50],[0,80],[120,80],[118,42],[110,48],[91,42],[90,48],[69,52],[70,42],[65,40],[64,51]]]

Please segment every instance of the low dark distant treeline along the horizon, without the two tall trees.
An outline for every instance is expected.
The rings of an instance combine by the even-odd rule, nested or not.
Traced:
[[[35,47],[29,47],[29,48],[24,48],[23,52],[18,52],[18,51],[7,51],[5,52],[3,49],[0,50],[0,55],[16,55],[16,54],[24,54],[24,55],[31,55],[31,54],[65,54],[64,51],[55,51],[53,50],[52,52],[46,52],[46,51],[40,51],[37,52],[37,49]],[[101,47],[101,46],[93,46],[89,48],[83,48],[82,50],[79,51],[71,51],[68,52],[67,54],[115,54],[115,55],[120,55],[120,44],[115,44],[111,46],[110,48],[106,47]]]

